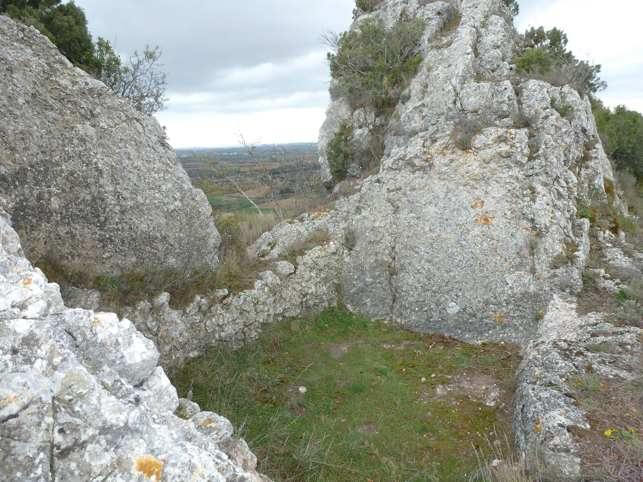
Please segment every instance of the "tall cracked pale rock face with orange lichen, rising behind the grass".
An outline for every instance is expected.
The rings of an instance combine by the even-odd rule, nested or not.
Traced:
[[[576,199],[605,197],[603,179],[612,177],[590,102],[515,75],[518,35],[502,0],[385,0],[351,28],[405,15],[426,24],[424,60],[391,116],[381,170],[353,183],[355,193],[306,232],[325,229],[338,247],[337,281],[352,309],[465,341],[526,346],[554,294],[580,289],[589,240]],[[327,141],[341,121],[357,129],[363,117],[337,90],[320,131],[327,175]],[[572,106],[565,118],[561,103]],[[455,142],[464,121],[480,126],[469,150]],[[304,237],[291,228],[266,233],[254,253],[287,251]]]

